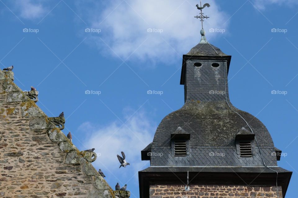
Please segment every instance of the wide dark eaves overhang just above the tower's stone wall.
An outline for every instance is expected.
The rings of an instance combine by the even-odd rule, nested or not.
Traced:
[[[278,172],[278,186],[285,197],[292,172],[280,167],[270,167]],[[154,167],[139,171],[140,197],[149,198],[150,185],[185,185],[189,171],[190,185],[244,185],[276,186],[277,174],[264,166],[244,167]],[[184,183],[182,181],[185,181]]]

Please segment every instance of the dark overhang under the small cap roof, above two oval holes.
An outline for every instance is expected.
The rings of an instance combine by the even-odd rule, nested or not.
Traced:
[[[190,56],[190,55],[184,54],[183,60],[182,60],[180,84],[184,84],[184,81],[185,81],[186,62],[188,59],[227,61],[228,73],[229,73],[231,58],[232,58],[232,56],[222,56],[222,57],[220,57],[220,56]]]

